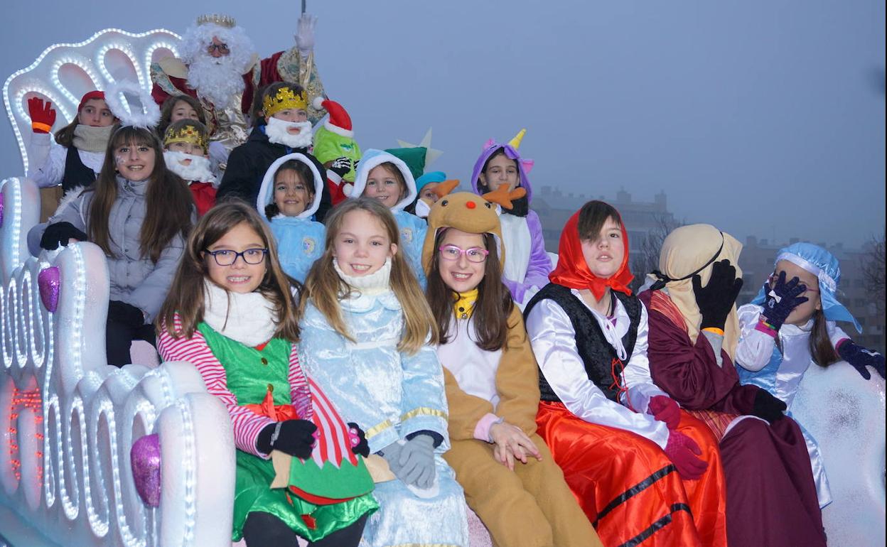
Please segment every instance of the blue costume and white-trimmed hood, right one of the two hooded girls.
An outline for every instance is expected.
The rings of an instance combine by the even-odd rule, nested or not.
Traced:
[[[358,198],[366,188],[366,177],[370,171],[389,161],[396,165],[404,176],[406,183],[406,196],[391,207],[391,214],[397,221],[397,227],[400,229],[400,249],[404,253],[406,262],[410,264],[412,273],[419,280],[419,285],[425,289],[425,270],[422,270],[422,244],[425,241],[425,232],[428,231],[428,223],[416,215],[411,215],[404,211],[404,207],[410,205],[419,195],[416,192],[416,181],[412,177],[410,168],[406,166],[404,160],[400,160],[389,152],[370,149],[364,152],[364,157],[357,164],[357,177],[354,181],[354,188],[350,191],[349,198]]]

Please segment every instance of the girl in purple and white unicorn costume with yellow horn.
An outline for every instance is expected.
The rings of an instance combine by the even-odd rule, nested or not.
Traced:
[[[512,199],[513,207],[502,209],[499,217],[503,243],[508,251],[502,281],[511,291],[514,302],[521,307],[540,287],[547,285],[552,270],[542,237],[542,223],[530,210],[533,189],[527,174],[533,167],[533,160],[524,160],[517,152],[525,133],[526,129],[521,129],[506,145],[492,139],[487,141],[471,174],[472,190],[479,195],[497,191],[503,184],[506,184],[507,191],[516,188],[526,191],[524,197]]]

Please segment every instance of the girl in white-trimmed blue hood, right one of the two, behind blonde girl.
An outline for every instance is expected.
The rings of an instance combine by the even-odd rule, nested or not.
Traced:
[[[417,195],[416,181],[404,160],[389,152],[370,149],[357,164],[357,176],[349,198],[374,198],[389,208],[400,230],[404,256],[424,290],[422,243],[425,241],[428,225],[418,216],[404,211],[404,207],[409,206]]]

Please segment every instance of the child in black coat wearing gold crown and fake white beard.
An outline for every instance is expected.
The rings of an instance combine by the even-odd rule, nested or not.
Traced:
[[[312,128],[308,121],[308,99],[302,87],[289,82],[272,83],[261,94],[261,109],[256,113],[255,125],[247,142],[231,152],[219,186],[219,200],[229,197],[255,203],[262,180],[271,164],[279,158],[302,153],[326,181],[326,169],[312,156]],[[330,192],[321,185],[320,206],[316,213],[322,222],[331,207]]]

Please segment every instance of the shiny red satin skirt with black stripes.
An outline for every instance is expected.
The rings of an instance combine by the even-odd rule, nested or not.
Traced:
[[[589,424],[560,402],[541,402],[536,423],[604,545],[726,545],[726,483],[718,441],[699,419],[682,410],[678,426],[709,463],[695,481],[682,480],[655,442]]]

